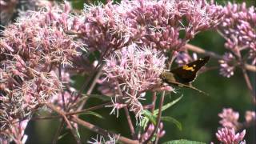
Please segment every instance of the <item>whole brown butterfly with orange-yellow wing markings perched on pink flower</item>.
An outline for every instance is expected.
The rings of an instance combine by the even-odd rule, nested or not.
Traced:
[[[162,82],[166,82],[167,84],[190,88],[206,94],[202,90],[198,90],[192,86],[191,82],[193,82],[197,77],[198,70],[200,70],[202,66],[205,66],[209,59],[210,56],[206,56],[173,70],[165,70],[162,72],[162,74],[160,74],[160,78],[162,79]]]

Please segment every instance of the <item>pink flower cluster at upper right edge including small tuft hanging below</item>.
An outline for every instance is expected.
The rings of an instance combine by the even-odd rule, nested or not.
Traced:
[[[228,2],[223,7],[222,22],[218,25],[218,31],[226,39],[225,46],[232,53],[226,53],[221,63],[220,74],[230,78],[234,74],[235,66],[241,66],[242,62],[251,65],[256,63],[256,11],[254,6],[246,8],[246,2],[232,4]],[[238,65],[232,60],[237,58]],[[239,62],[240,61],[240,62]]]

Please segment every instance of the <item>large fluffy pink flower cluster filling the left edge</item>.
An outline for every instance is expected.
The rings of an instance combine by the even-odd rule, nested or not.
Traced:
[[[1,131],[29,118],[62,90],[58,67],[71,66],[82,51],[82,43],[67,34],[74,23],[66,3],[30,11],[6,26],[0,38]]]

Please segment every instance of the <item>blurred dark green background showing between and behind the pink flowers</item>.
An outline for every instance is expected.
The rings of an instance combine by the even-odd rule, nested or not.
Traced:
[[[82,9],[84,3],[83,0],[74,0],[71,2],[74,8]],[[217,2],[224,4],[227,1]],[[252,6],[254,5],[254,0],[246,1],[246,3],[247,6]],[[206,50],[214,51],[218,54],[224,54],[226,51],[223,46],[223,38],[214,31],[206,31],[198,34],[190,43]],[[218,66],[217,63],[218,61],[216,59],[211,58],[207,66]],[[250,78],[255,87],[255,74],[250,73]],[[73,78],[75,87],[80,87],[81,79],[83,78]],[[246,110],[255,110],[255,107],[250,102],[250,93],[246,87],[246,82],[242,77],[241,70],[235,70],[234,76],[231,78],[222,77],[219,74],[218,69],[207,71],[198,76],[197,80],[194,82],[194,86],[205,91],[209,96],[203,96],[194,90],[178,89],[178,94],[171,94],[170,97],[165,98],[165,103],[167,103],[184,94],[184,97],[180,102],[172,106],[169,110],[163,112],[163,116],[171,116],[181,122],[182,130],[178,130],[173,123],[164,122],[166,134],[161,138],[159,143],[181,138],[207,143],[217,142],[215,132],[220,126],[218,124],[218,121],[220,120],[220,118],[218,118],[218,113],[222,112],[222,108],[231,107],[235,111],[238,111],[240,114],[240,122],[245,120],[244,114]],[[94,93],[98,93],[98,91],[94,91],[93,94]],[[150,102],[150,99],[148,102]],[[101,103],[100,100],[91,98],[87,102],[86,107],[95,106]],[[80,118],[106,130],[112,130],[130,138],[130,130],[123,110],[119,111],[120,114],[118,118],[116,118],[116,115],[109,114],[111,108],[94,111],[101,114],[104,119],[96,118],[91,115],[83,115]],[[51,143],[59,124],[60,122],[58,120],[31,121],[26,128],[26,134],[29,135],[27,143]],[[83,143],[91,140],[91,138],[96,138],[97,135],[90,130],[86,130],[82,126],[80,126],[79,132]],[[58,143],[75,143],[69,130],[62,130],[61,135],[63,135],[63,137]],[[246,129],[246,143],[256,143],[255,135],[256,133],[253,127]]]

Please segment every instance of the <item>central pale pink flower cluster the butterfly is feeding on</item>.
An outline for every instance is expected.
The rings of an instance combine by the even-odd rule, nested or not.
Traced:
[[[118,87],[118,103],[127,104],[140,115],[143,109],[139,99],[143,93],[161,86],[159,75],[165,68],[166,58],[158,50],[131,44],[106,58],[106,80]]]

